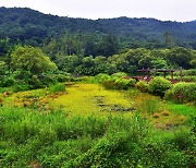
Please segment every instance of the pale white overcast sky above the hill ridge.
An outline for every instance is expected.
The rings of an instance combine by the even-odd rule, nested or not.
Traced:
[[[0,7],[27,7],[60,16],[94,20],[119,16],[196,20],[196,0],[0,0]]]

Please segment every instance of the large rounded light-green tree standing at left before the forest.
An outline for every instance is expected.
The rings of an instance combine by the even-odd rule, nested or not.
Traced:
[[[30,74],[40,74],[57,69],[56,64],[39,48],[29,46],[17,46],[11,55],[11,64],[14,70],[28,71]]]

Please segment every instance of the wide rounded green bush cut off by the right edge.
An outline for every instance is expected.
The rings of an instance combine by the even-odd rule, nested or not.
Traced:
[[[174,100],[175,103],[196,101],[196,83],[177,83],[171,87],[166,99]]]

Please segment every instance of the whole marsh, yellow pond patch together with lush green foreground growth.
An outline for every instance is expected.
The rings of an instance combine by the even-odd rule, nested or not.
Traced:
[[[70,84],[2,95],[0,167],[194,167],[196,107]]]

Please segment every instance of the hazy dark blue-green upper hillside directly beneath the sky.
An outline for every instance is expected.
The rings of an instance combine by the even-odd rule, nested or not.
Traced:
[[[170,45],[196,49],[196,21],[179,23],[155,19],[71,19],[22,8],[0,8],[0,38],[41,44],[47,37],[60,37],[65,32],[111,34],[127,47],[145,47],[151,44],[160,48]],[[130,46],[128,46],[130,45]]]

